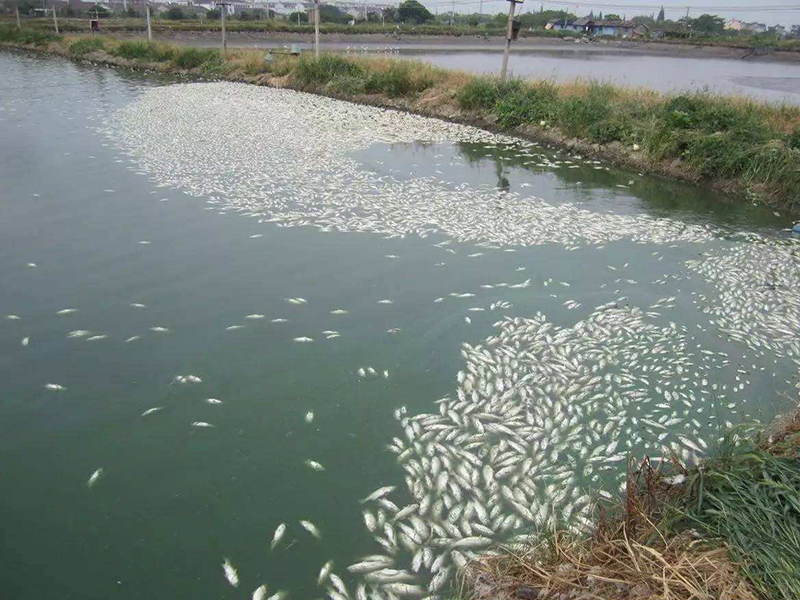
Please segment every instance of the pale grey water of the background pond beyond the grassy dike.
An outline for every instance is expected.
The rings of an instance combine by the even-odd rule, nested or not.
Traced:
[[[219,46],[219,36],[194,34],[168,41]],[[630,42],[628,42],[630,44]],[[313,49],[308,35],[280,41],[258,34],[231,34],[229,45],[247,48],[281,48],[295,45]],[[418,42],[386,38],[381,42],[323,40],[325,50],[350,54],[388,54],[421,60],[446,69],[497,75],[502,60],[502,40]],[[698,53],[702,50],[698,50]],[[537,44],[522,40],[513,46],[509,59],[512,76],[569,82],[596,79],[628,87],[647,87],[662,92],[708,90],[719,94],[749,96],[786,104],[800,103],[800,63],[768,56],[714,58],[655,54],[634,45]]]

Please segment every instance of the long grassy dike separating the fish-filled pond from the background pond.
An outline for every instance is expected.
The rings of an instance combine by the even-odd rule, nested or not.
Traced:
[[[197,49],[0,27],[0,43],[77,60],[288,87],[473,123],[800,211],[800,108],[598,82],[497,79],[389,58]]]

